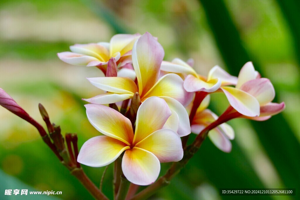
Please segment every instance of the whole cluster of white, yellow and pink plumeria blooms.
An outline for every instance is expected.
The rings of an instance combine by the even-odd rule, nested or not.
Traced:
[[[179,58],[163,61],[164,49],[149,33],[117,34],[110,43],[76,44],[70,50],[58,57],[69,64],[96,66],[105,74],[88,81],[106,93],[83,99],[90,103],[85,105],[88,120],[104,136],[86,141],[77,161],[101,167],[122,157],[124,176],[137,185],[155,182],[160,163],[181,160],[185,142],[180,137],[186,140],[191,131],[208,129],[214,145],[229,152],[234,131],[226,121],[263,121],[285,107],[271,103],[273,85],[251,62],[238,77],[219,66],[202,76]],[[225,94],[230,104],[220,117],[207,109],[210,94],[216,92]]]

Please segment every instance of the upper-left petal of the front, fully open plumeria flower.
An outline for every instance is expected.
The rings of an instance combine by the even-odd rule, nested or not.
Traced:
[[[99,104],[86,104],[88,121],[100,133],[130,145],[133,139],[131,122],[121,113]]]

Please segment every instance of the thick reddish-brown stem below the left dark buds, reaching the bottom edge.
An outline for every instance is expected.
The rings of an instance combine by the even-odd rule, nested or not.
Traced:
[[[82,168],[75,168],[71,171],[81,184],[98,200],[108,200],[108,198],[93,184],[93,182],[86,176]]]

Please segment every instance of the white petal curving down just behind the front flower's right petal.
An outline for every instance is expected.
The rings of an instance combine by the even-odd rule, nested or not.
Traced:
[[[184,106],[177,100],[170,98],[170,97],[163,97],[163,99],[167,102],[169,108],[171,109],[172,113],[176,112],[178,117],[178,124],[176,125],[176,119],[172,121],[172,115],[167,120],[169,122],[170,127],[178,127],[177,133],[180,137],[186,136],[190,134],[190,120],[187,114],[186,109]],[[173,125],[171,125],[173,124]],[[173,130],[173,129],[172,129]]]

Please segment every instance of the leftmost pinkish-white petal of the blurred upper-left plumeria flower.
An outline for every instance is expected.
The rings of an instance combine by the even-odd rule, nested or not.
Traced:
[[[92,61],[98,62],[99,60],[95,57],[88,56],[88,55],[82,55],[78,53],[72,53],[72,52],[61,52],[57,54],[58,58],[62,61],[73,64],[73,65],[87,65]]]

